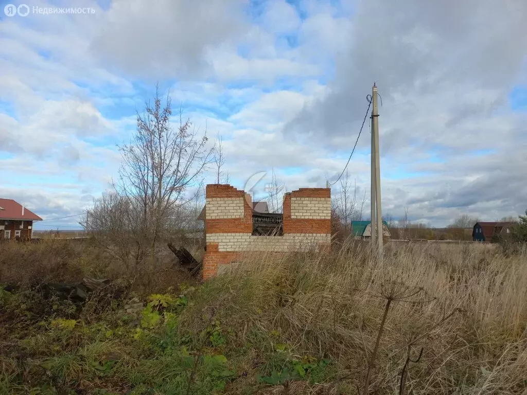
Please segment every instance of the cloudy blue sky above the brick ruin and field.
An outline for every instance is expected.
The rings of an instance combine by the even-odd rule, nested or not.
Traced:
[[[8,4],[22,3],[0,2],[0,197],[45,219],[35,229],[79,228],[54,219],[111,188],[157,83],[221,135],[239,189],[273,170],[289,191],[334,182],[375,82],[383,214],[445,226],[527,209],[523,0]],[[37,12],[63,7],[88,12]],[[369,143],[367,119],[347,168],[365,206]]]

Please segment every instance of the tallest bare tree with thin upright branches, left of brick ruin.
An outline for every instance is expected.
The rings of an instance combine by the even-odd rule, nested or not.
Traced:
[[[179,126],[174,128],[171,115],[170,96],[162,105],[156,88],[153,105],[147,102],[144,113],[137,113],[131,142],[119,147],[123,162],[114,184],[118,197],[103,196],[106,201],[96,202],[89,214],[88,226],[99,233],[126,224],[120,237],[133,238],[142,250],[148,246],[152,259],[174,216],[198,195],[199,189],[190,195],[188,192],[200,183],[203,171],[212,162],[213,147],[207,146],[206,131],[200,134],[191,130],[190,121],[183,122],[181,110]],[[128,218],[110,225],[102,220],[103,213],[115,207],[129,210]],[[97,215],[101,221],[93,225],[90,221]]]

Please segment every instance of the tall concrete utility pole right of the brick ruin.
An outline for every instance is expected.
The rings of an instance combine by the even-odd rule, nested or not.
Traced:
[[[375,192],[375,199],[372,199],[372,214],[375,210],[377,249],[379,256],[383,253],[383,214],[380,205],[380,154],[379,154],[379,113],[377,107],[377,86],[375,83],[372,88],[372,196]],[[375,203],[374,203],[375,202]],[[375,205],[375,209],[374,209]],[[372,215],[372,235],[373,235],[374,216]],[[375,239],[372,239],[374,245]]]

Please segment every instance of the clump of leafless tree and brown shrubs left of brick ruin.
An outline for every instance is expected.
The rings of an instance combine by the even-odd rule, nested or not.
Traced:
[[[119,147],[122,163],[113,190],[96,199],[82,221],[92,240],[129,269],[155,262],[174,230],[202,232],[196,219],[203,173],[217,150],[207,131],[178,115],[174,127],[170,95],[163,102],[156,89],[153,103],[137,113],[130,143]]]

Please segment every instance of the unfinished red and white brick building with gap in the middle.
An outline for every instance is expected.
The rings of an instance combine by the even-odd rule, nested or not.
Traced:
[[[282,214],[253,210],[251,196],[228,184],[206,187],[204,210],[207,250],[203,278],[240,259],[243,252],[320,249],[331,239],[331,190],[300,188],[284,195]],[[262,235],[267,224],[270,235]]]

